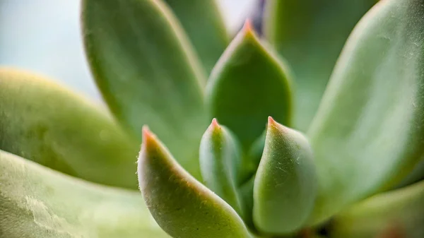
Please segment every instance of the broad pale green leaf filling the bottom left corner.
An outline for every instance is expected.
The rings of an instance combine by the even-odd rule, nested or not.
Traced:
[[[169,237],[138,191],[69,177],[0,150],[0,237]]]

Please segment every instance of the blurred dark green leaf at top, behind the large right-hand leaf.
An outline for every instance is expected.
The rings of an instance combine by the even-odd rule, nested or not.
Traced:
[[[306,131],[336,59],[377,0],[267,0],[264,34],[295,73],[295,129]]]

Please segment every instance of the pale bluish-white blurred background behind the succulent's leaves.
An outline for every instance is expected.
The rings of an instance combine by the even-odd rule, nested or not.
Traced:
[[[230,33],[257,15],[257,0],[218,0]],[[0,0],[0,65],[41,73],[100,100],[83,52],[78,0]]]

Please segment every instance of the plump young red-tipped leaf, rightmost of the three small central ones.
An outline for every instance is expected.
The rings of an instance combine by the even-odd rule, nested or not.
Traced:
[[[307,138],[269,117],[254,179],[255,227],[269,234],[298,230],[312,212],[316,195],[317,177]]]

